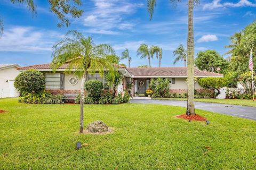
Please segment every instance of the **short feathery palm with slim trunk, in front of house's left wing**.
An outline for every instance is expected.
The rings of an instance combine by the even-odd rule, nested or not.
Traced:
[[[101,76],[104,70],[114,73],[114,66],[106,57],[108,55],[115,55],[115,50],[107,44],[95,45],[91,37],[84,37],[82,33],[77,31],[69,31],[66,37],[55,43],[53,46],[53,71],[63,64],[67,64],[66,72],[74,71],[81,81],[81,100],[80,100],[80,129],[79,133],[83,132],[84,119],[84,83],[87,72],[94,74],[96,71]]]

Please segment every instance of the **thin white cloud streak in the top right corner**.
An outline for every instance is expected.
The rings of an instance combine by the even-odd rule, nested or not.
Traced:
[[[221,3],[221,0],[214,0],[211,3],[205,4],[203,6],[203,10],[213,10],[215,8],[221,8],[221,7],[243,7],[243,6],[256,7],[256,4],[248,0],[239,0],[237,3],[233,3],[233,2]]]

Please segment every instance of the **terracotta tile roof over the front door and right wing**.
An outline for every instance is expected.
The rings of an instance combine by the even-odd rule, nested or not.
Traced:
[[[133,77],[187,76],[187,67],[126,68]],[[195,68],[195,76],[223,76],[223,74],[201,71]]]

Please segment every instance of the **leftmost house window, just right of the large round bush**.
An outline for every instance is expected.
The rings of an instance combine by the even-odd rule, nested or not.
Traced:
[[[45,74],[46,89],[60,89],[60,73]]]

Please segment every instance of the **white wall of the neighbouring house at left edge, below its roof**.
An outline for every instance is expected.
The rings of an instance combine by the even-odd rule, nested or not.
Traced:
[[[19,73],[16,67],[0,70],[0,89],[9,89],[9,83],[6,80],[14,80]]]

